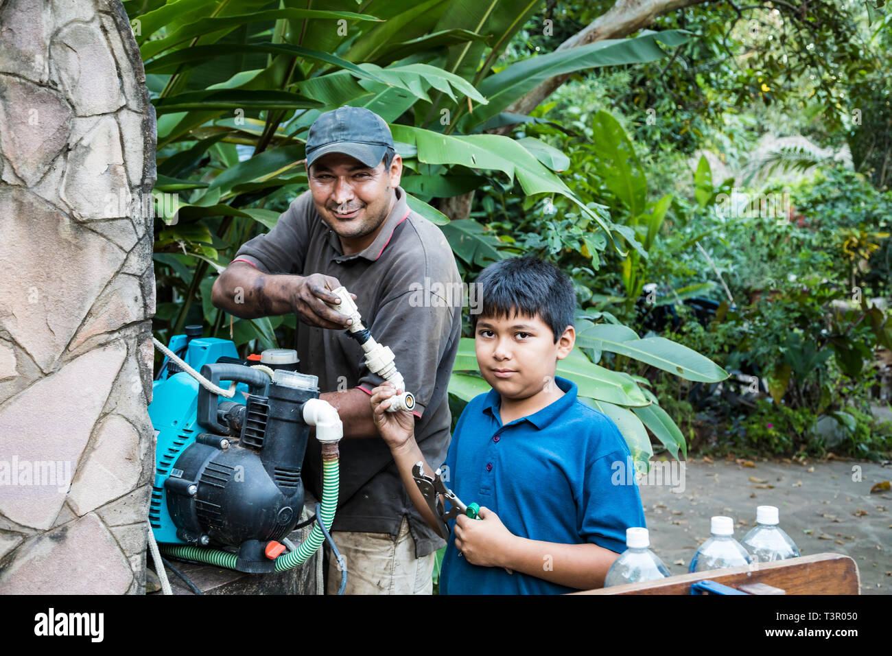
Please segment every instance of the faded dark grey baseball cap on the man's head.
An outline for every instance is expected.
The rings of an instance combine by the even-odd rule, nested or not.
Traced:
[[[387,123],[365,107],[338,107],[319,114],[307,135],[307,168],[329,153],[348,154],[366,166],[376,167],[393,137]]]

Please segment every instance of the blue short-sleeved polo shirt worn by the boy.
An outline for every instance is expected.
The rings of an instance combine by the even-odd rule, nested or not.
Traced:
[[[447,485],[465,503],[494,511],[516,536],[560,544],[594,543],[625,551],[625,529],[644,527],[638,486],[613,485],[615,468],[631,460],[619,429],[582,403],[576,385],[532,415],[502,426],[500,394],[476,396],[458,419],[446,466]],[[446,473],[446,472],[444,472]],[[455,521],[450,521],[450,529]],[[543,561],[543,568],[548,566]],[[471,565],[450,535],[441,594],[560,594],[572,588],[499,567]]]

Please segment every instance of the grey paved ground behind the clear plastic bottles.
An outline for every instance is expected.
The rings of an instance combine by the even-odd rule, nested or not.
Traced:
[[[892,478],[892,465],[708,458],[684,464],[681,478],[640,485],[651,548],[673,574],[688,571],[713,515],[733,518],[734,537],[742,540],[756,524],[756,506],[773,505],[802,555],[851,556],[862,594],[892,594],[892,492],[871,494],[871,486]]]

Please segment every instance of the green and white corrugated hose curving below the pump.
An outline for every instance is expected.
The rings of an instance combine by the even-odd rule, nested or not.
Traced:
[[[335,453],[326,459],[326,447],[334,446],[332,450]],[[332,522],[335,521],[335,509],[337,508],[337,492],[339,485],[340,468],[337,458],[337,444],[323,444],[323,461],[322,461],[322,504],[318,519],[327,530],[331,530]],[[322,533],[322,529],[318,527],[318,523],[313,524],[313,530],[310,536],[301,542],[301,544],[293,552],[283,553],[276,559],[276,571],[284,572],[285,569],[293,569],[298,565],[302,565],[310,560],[310,556],[317,552],[319,546],[326,541],[326,536]],[[217,567],[225,567],[235,569],[235,561],[238,556],[235,553],[224,552],[219,549],[202,549],[190,545],[175,546],[172,544],[159,544],[161,553],[173,556],[185,561],[205,562],[209,565]]]

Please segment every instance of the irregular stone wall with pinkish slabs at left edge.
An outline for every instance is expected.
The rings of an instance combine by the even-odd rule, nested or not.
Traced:
[[[0,593],[142,593],[155,118],[118,0],[0,0]]]

